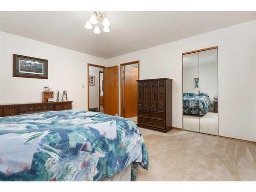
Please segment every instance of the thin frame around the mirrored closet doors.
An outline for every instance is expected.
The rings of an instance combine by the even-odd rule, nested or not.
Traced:
[[[183,55],[187,55],[190,53],[198,53],[201,51],[207,51],[207,50],[211,50],[211,49],[217,49],[217,87],[218,87],[218,135],[219,136],[219,46],[214,46],[214,47],[209,47],[209,48],[204,48],[204,49],[199,49],[199,50],[195,50],[195,51],[188,51],[188,52],[184,52],[182,53],[182,94],[181,94],[181,98],[182,98],[182,130],[184,130],[184,119],[183,119]],[[199,91],[200,91],[200,80],[199,80]],[[199,115],[200,116],[200,115]],[[199,117],[200,118],[200,117]],[[189,131],[189,130],[185,130],[185,131]],[[194,132],[194,131],[191,131]],[[199,120],[199,132],[196,133],[200,133],[200,120]],[[201,133],[201,134],[207,134],[207,133]],[[211,135],[211,134],[207,134],[207,135]],[[216,136],[216,135],[215,135]]]

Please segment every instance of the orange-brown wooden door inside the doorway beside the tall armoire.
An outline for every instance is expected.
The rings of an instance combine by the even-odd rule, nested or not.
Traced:
[[[138,68],[124,66],[124,117],[137,116],[137,81]]]

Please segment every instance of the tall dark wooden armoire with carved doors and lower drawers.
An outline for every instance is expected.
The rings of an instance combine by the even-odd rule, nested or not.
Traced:
[[[172,80],[137,80],[139,127],[164,133],[172,129]]]

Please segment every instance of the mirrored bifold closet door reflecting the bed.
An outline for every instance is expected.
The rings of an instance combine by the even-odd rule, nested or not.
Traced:
[[[183,54],[183,129],[219,135],[218,48]]]

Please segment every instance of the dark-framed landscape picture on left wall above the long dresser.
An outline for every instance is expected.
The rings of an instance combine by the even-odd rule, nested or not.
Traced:
[[[13,54],[12,76],[48,79],[48,60]]]

